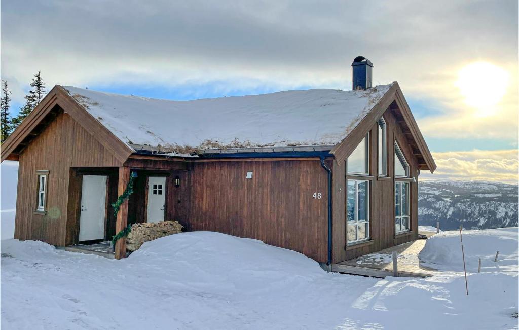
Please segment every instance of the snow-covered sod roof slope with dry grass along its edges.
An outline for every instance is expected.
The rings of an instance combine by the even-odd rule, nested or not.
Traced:
[[[336,145],[390,89],[310,89],[170,101],[63,87],[128,146],[201,150]]]

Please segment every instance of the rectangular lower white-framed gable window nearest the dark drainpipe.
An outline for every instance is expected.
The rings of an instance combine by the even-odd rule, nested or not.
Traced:
[[[347,181],[348,243],[370,239],[369,181]]]

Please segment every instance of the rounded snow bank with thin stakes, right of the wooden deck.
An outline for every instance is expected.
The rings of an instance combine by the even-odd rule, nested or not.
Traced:
[[[482,271],[517,271],[518,228],[463,230],[462,235],[467,271],[477,272],[479,258],[482,258]],[[499,257],[495,263],[497,251]],[[463,271],[459,230],[444,231],[429,238],[419,258],[425,266]]]

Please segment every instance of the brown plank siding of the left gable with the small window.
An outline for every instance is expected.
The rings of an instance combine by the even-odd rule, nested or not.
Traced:
[[[71,116],[61,112],[20,154],[15,238],[54,245],[70,243],[73,229],[71,222],[67,224],[67,215],[75,212],[67,210],[70,168],[85,166],[117,167],[120,161]],[[46,214],[33,213],[37,204],[37,170],[49,171]],[[78,178],[72,178],[77,183]],[[70,198],[77,196],[75,191]]]

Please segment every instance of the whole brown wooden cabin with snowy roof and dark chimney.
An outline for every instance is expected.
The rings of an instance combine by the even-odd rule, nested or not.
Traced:
[[[418,175],[436,165],[398,83],[352,66],[351,91],[167,101],[55,86],[2,145],[19,162],[15,238],[68,246],[177,220],[328,265],[416,240]]]

